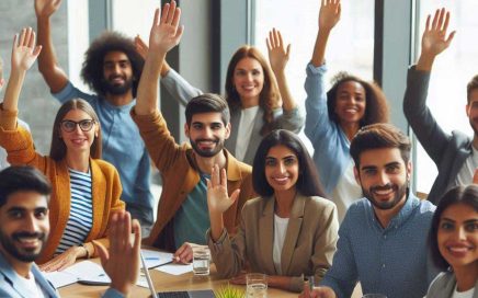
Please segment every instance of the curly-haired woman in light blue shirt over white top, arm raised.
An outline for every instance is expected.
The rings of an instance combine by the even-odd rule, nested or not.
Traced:
[[[375,83],[340,72],[326,93],[325,53],[331,30],[340,20],[340,0],[323,0],[312,59],[307,66],[305,89],[306,136],[314,146],[314,161],[327,195],[335,203],[342,221],[349,206],[361,198],[353,174],[350,141],[365,125],[388,122],[384,92]]]

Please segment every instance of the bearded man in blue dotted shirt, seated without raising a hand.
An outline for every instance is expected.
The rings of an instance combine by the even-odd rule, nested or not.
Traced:
[[[409,192],[410,140],[388,124],[363,127],[350,146],[364,198],[350,206],[339,229],[332,267],[312,297],[363,293],[423,297],[439,273],[428,259],[435,206]]]

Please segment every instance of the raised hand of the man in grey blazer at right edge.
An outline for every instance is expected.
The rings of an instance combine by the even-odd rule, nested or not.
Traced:
[[[455,36],[455,31],[446,36],[449,23],[449,12],[445,9],[436,10],[433,22],[431,15],[426,18],[425,31],[422,36],[422,54],[436,56],[445,50]]]

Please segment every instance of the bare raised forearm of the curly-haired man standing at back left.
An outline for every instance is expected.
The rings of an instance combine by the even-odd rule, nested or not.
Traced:
[[[68,77],[59,67],[52,41],[50,16],[58,10],[61,0],[35,0],[38,44],[43,46],[38,57],[38,70],[52,93],[58,93],[68,83]]]

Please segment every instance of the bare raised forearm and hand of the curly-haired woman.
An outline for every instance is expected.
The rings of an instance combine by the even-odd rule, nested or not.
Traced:
[[[325,62],[327,42],[330,32],[340,20],[340,0],[322,0],[319,12],[319,32],[317,33],[311,59],[315,67],[319,67]]]

